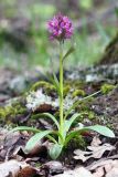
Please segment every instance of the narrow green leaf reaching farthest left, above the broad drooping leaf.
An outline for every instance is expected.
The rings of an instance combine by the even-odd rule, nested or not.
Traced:
[[[18,131],[29,131],[29,132],[33,132],[33,133],[39,133],[40,131],[37,128],[33,128],[33,127],[29,127],[29,126],[18,126],[15,128],[13,128],[11,132],[18,132]]]

